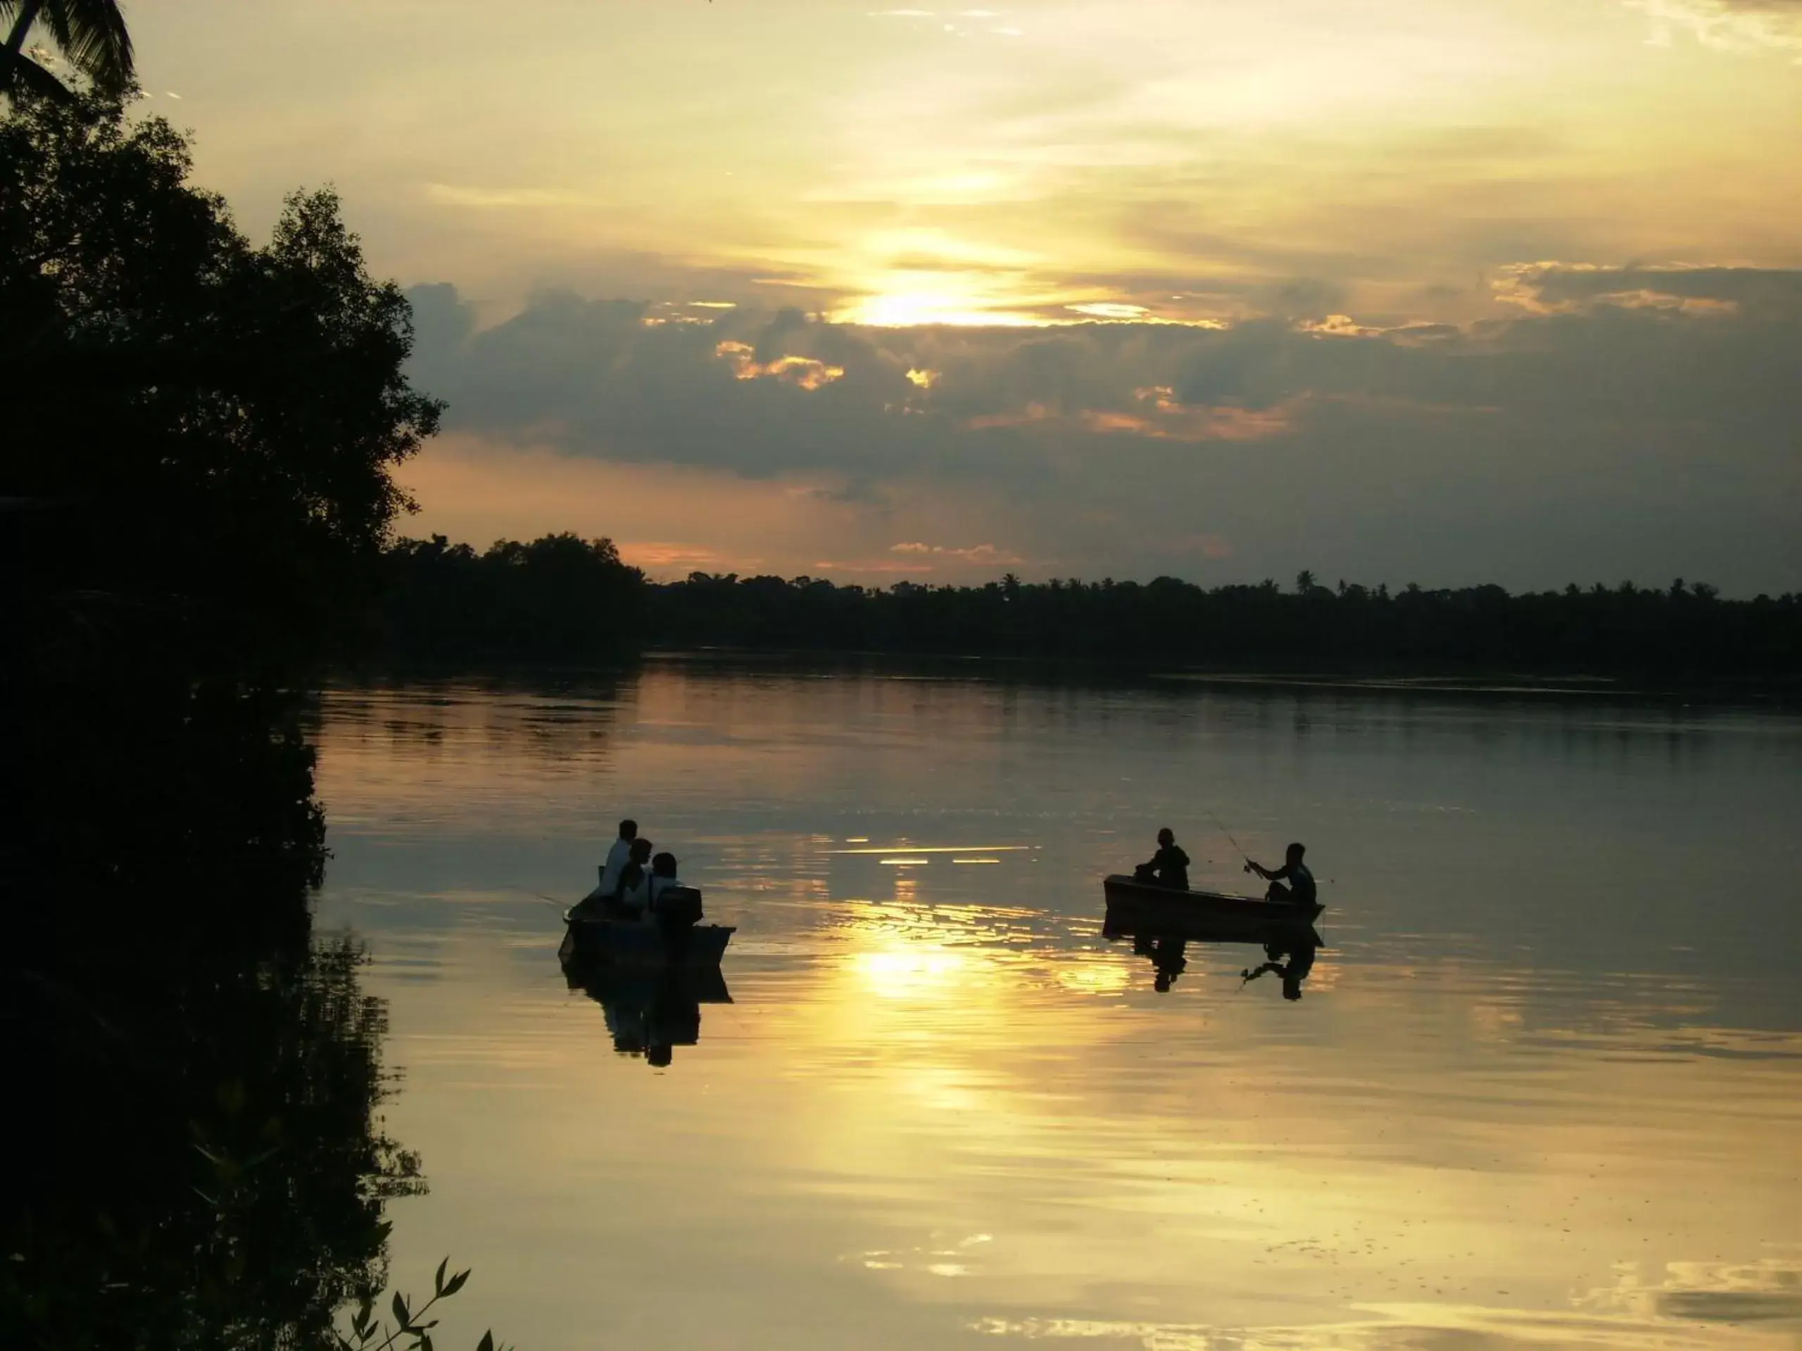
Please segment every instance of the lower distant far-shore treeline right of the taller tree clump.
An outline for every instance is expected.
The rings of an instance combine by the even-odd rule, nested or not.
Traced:
[[[887,591],[796,576],[694,573],[649,587],[645,643],[997,654],[1218,668],[1802,676],[1802,596],[1723,600],[1710,585],[1508,594],[1297,578],[1202,589],[1004,578]]]

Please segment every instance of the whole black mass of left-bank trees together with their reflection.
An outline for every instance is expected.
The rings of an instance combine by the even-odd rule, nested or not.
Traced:
[[[330,193],[256,249],[187,171],[117,99],[0,115],[0,744],[29,785],[0,1039],[41,1088],[0,1198],[7,1347],[341,1344],[423,1187],[364,955],[312,935],[324,812],[281,686],[373,580],[440,405]]]

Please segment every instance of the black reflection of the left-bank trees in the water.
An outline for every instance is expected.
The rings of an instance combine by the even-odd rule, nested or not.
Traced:
[[[34,757],[43,848],[9,875],[29,942],[0,987],[31,1101],[0,1342],[326,1344],[386,1281],[384,1201],[423,1183],[380,1129],[362,951],[310,935],[312,753],[268,701],[47,699],[67,735]]]

